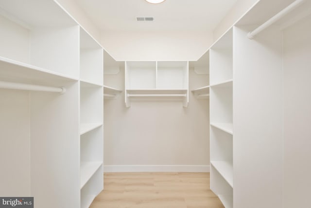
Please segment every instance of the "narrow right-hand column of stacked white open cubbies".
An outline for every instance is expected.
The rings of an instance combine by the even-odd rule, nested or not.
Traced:
[[[227,207],[233,207],[232,29],[209,51],[210,163],[213,190]]]

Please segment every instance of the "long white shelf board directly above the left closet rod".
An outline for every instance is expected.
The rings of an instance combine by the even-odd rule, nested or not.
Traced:
[[[74,77],[62,75],[5,57],[0,57],[0,68],[1,81],[21,82],[24,84],[36,85],[48,84],[58,87],[57,83],[78,80]]]

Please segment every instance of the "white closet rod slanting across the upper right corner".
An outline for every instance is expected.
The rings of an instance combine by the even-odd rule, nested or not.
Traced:
[[[263,23],[262,25],[260,25],[258,28],[256,28],[255,30],[253,30],[252,32],[249,32],[247,34],[247,38],[249,39],[253,39],[255,38],[255,36],[257,34],[259,34],[261,31],[263,31],[264,29],[266,29],[267,27],[269,27],[270,25],[272,25],[273,23],[275,23],[277,20],[281,19],[282,17],[284,17],[285,15],[287,15],[288,13],[290,13],[294,8],[296,8],[297,6],[299,6],[303,1],[305,0],[295,0],[293,3],[291,3],[290,5],[288,5],[286,8],[284,8],[282,11],[280,11],[279,13],[277,13],[275,16],[273,16],[272,18],[268,19],[265,23]]]

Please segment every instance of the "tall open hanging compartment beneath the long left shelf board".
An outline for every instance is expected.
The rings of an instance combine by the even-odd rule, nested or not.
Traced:
[[[10,158],[0,162],[1,195],[33,196],[37,207],[79,207],[78,81],[14,65],[1,66],[0,77],[66,88],[64,94],[0,89],[0,156]]]

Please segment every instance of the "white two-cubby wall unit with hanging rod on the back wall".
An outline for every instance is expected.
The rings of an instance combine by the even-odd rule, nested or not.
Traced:
[[[174,98],[189,102],[188,61],[126,61],[125,105],[133,97]],[[154,100],[153,100],[154,101]]]

